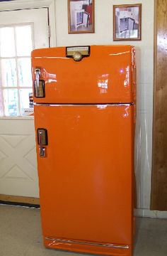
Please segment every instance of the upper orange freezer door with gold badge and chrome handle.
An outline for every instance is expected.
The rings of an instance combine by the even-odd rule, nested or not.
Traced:
[[[132,46],[37,49],[32,52],[32,68],[37,103],[134,102],[136,82]],[[36,70],[40,70],[38,77]],[[37,84],[38,79],[40,83]]]

